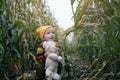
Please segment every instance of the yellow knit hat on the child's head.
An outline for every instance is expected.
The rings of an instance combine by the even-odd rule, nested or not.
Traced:
[[[48,29],[48,28],[51,28],[52,26],[48,25],[48,26],[41,26],[39,28],[36,29],[36,32],[39,34],[41,40],[43,40],[44,38],[44,34],[45,34],[45,31]]]

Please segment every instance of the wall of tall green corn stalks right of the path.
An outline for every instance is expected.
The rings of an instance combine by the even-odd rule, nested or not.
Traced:
[[[76,42],[77,51],[73,53],[77,52],[91,64],[99,59],[97,65],[94,65],[95,73],[91,80],[99,80],[111,66],[113,79],[117,79],[120,72],[120,1],[71,0],[71,6],[75,1],[78,1],[76,11],[73,12],[75,24],[64,33],[67,36],[74,32],[73,42]],[[106,65],[101,66],[104,62],[107,62]]]

